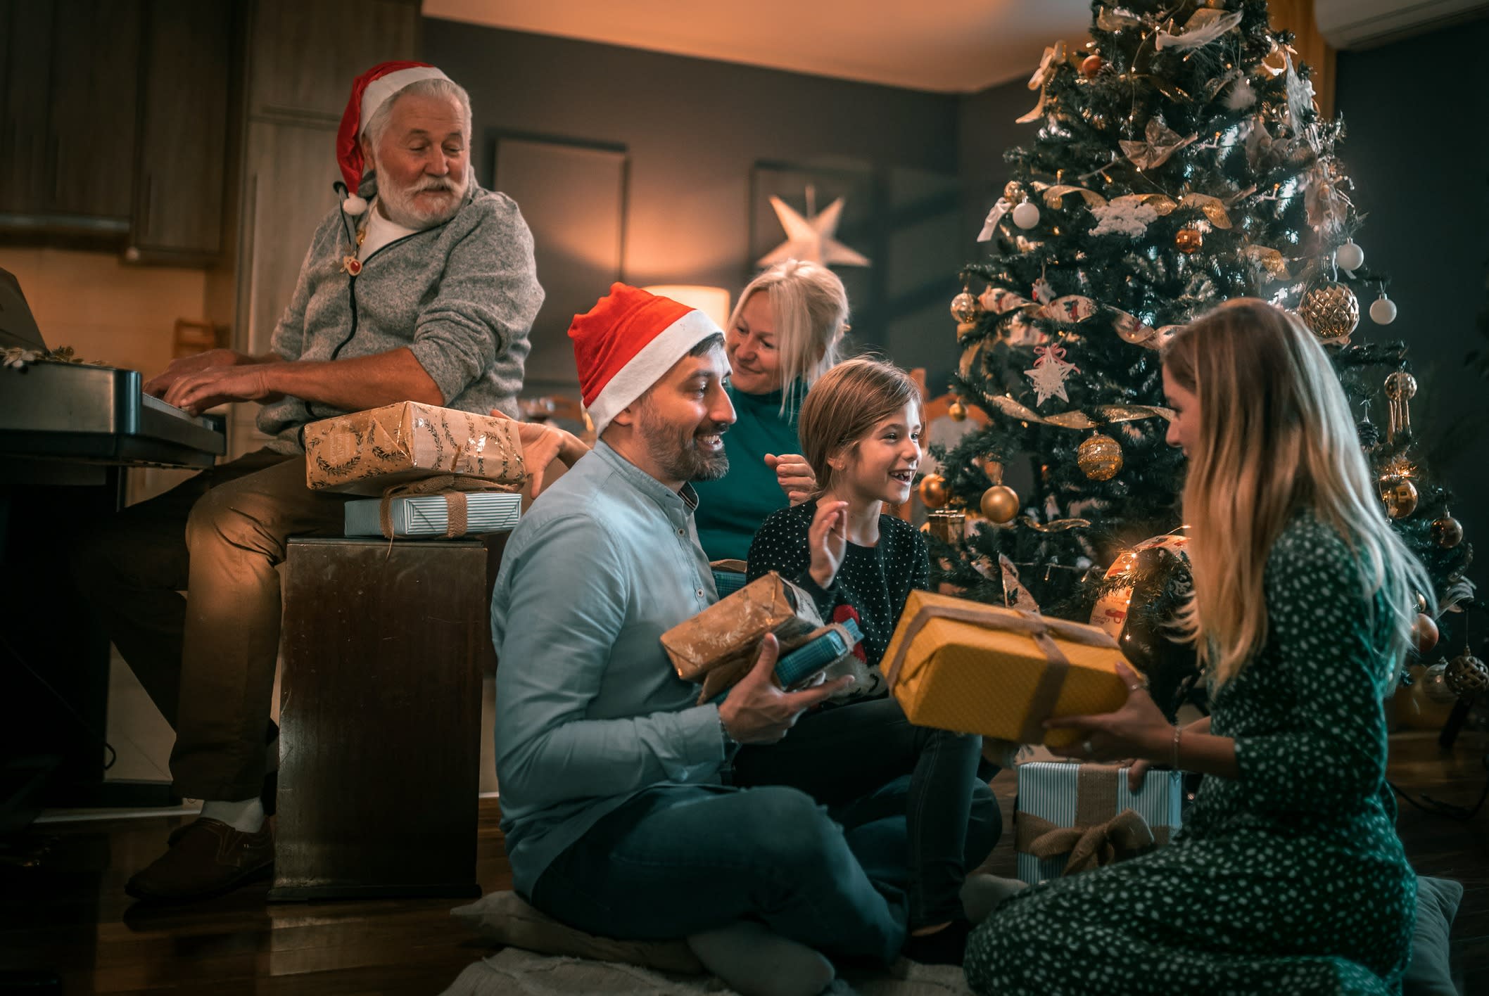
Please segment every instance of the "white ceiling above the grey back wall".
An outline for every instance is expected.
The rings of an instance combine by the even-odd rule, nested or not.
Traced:
[[[424,0],[423,10],[514,31],[944,92],[1027,76],[1054,39],[1083,40],[1091,16],[1088,0]]]

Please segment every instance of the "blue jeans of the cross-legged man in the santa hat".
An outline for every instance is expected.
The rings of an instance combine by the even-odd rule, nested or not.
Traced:
[[[530,898],[625,939],[758,919],[825,954],[886,965],[905,941],[904,892],[864,871],[826,808],[782,786],[645,789],[558,855]]]

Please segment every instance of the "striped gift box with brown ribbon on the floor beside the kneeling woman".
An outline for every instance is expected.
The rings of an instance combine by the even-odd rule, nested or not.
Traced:
[[[1124,834],[1133,832],[1132,810],[1151,831],[1148,847],[1161,847],[1179,828],[1179,807],[1184,801],[1182,771],[1148,770],[1142,791],[1127,791],[1127,768],[1111,764],[1069,764],[1032,761],[1018,765],[1018,801],[1014,808],[1014,850],[1018,878],[1030,886],[1065,874],[1074,847],[1084,837],[1085,847],[1124,853],[1133,843]],[[1114,817],[1123,816],[1121,820]],[[1059,834],[1062,829],[1084,834]],[[1141,831],[1138,831],[1141,832]],[[1035,852],[1054,856],[1041,858]]]

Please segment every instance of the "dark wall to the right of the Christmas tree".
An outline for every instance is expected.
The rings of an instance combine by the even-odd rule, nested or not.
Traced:
[[[1470,576],[1480,585],[1489,584],[1489,381],[1462,360],[1489,345],[1474,328],[1489,305],[1489,85],[1464,54],[1486,46],[1489,19],[1479,19],[1340,52],[1336,89],[1351,197],[1368,214],[1358,241],[1365,265],[1389,274],[1400,310],[1385,329],[1368,319],[1361,328],[1407,344],[1418,380],[1412,427],[1458,494],[1453,515],[1479,546]]]

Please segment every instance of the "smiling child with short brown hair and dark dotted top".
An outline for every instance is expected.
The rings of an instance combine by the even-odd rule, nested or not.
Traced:
[[[765,520],[750,545],[749,578],[779,572],[812,594],[823,619],[856,616],[864,658],[843,700],[801,716],[777,744],[743,747],[734,782],[791,785],[832,807],[908,774],[908,799],[877,797],[908,822],[908,856],[902,849],[886,856],[908,865],[905,954],[960,962],[969,923],[959,892],[1001,829],[992,805],[980,807],[969,831],[981,737],[910,725],[879,668],[910,590],[925,588],[931,572],[920,533],[883,514],[886,502],[910,497],[920,463],[920,389],[889,363],[840,363],[812,387],[800,430],[817,494]]]

